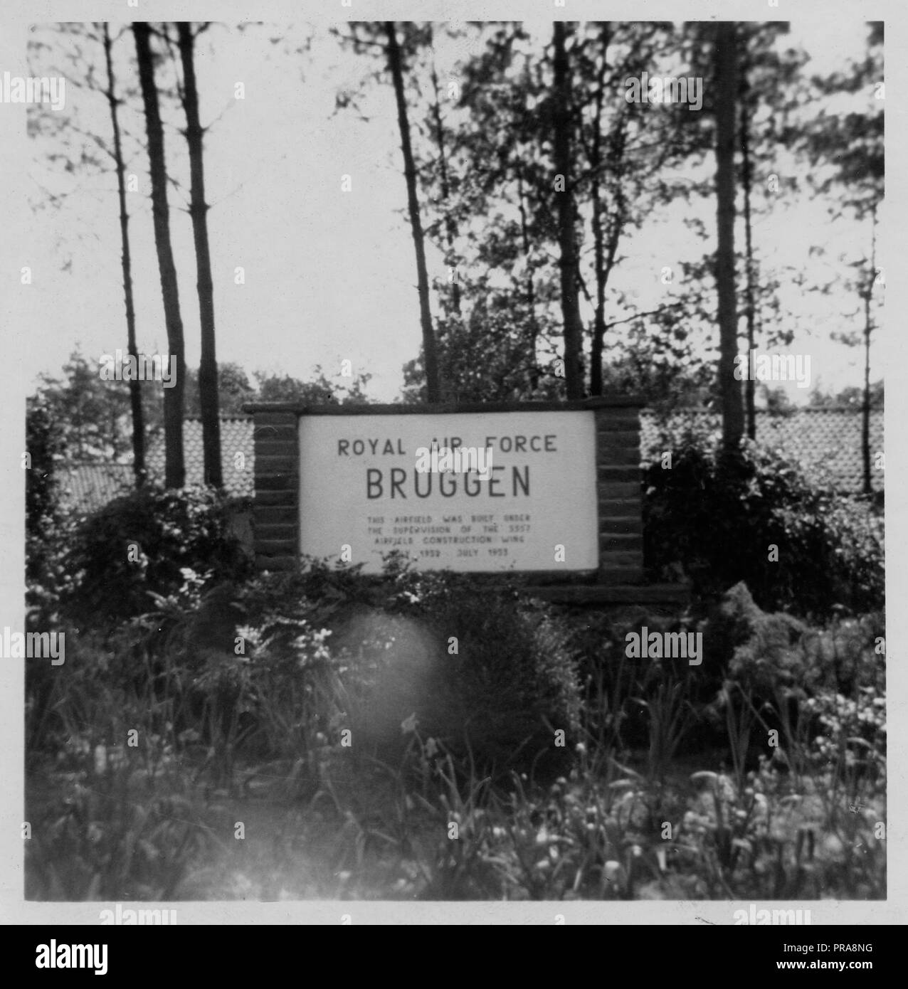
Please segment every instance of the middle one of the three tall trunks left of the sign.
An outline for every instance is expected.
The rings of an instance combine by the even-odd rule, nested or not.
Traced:
[[[142,21],[133,23],[136,39],[138,78],[145,110],[148,138],[148,164],[151,175],[151,215],[154,219],[154,243],[161,279],[164,324],[170,351],[174,383],[164,391],[164,484],[182,488],[186,482],[183,461],[183,389],[186,383],[186,355],[183,346],[183,320],[180,317],[180,292],[177,284],[173,248],[170,246],[170,220],[167,207],[167,167],[164,159],[164,129],[161,127],[154,63],[151,58],[150,28]]]

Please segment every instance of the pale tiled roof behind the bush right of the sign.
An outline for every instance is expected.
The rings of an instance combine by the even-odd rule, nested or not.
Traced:
[[[693,409],[677,411],[669,418],[674,430],[690,423],[697,432],[718,431],[717,412]],[[858,493],[863,487],[861,457],[861,409],[854,407],[799,408],[788,414],[757,410],[757,443],[778,450],[793,460],[805,475],[817,483],[830,484],[837,491]],[[655,459],[659,422],[656,413],[644,409],[640,423],[640,450],[644,463]],[[870,410],[870,454],[883,451],[883,412]],[[874,491],[883,487],[883,473],[871,463]]]

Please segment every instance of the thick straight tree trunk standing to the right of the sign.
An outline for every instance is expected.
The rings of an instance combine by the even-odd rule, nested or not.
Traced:
[[[713,50],[716,90],[716,286],[719,320],[719,392],[722,400],[722,445],[738,451],[744,433],[741,383],[735,379],[738,315],[735,300],[735,109],[738,66],[735,24],[716,25]]]

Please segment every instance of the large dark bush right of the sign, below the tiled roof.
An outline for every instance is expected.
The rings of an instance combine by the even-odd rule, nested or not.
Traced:
[[[682,436],[672,469],[653,464],[644,480],[652,579],[681,573],[707,599],[743,581],[762,608],[803,615],[880,607],[882,520],[812,486],[777,453],[745,444],[740,457],[723,457],[710,441]]]

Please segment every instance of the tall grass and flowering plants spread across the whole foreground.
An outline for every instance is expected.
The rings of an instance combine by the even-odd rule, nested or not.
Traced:
[[[713,703],[700,672],[635,669],[594,645],[562,758],[501,767],[477,750],[499,752],[499,725],[451,741],[399,717],[400,698],[374,710],[390,682],[376,657],[395,662],[394,637],[412,623],[370,625],[349,652],[308,611],[269,613],[237,629],[237,655],[194,642],[190,603],[173,605],[170,625],[158,615],[74,636],[64,667],[31,668],[27,898],[886,895],[885,699],[869,620],[784,639],[774,659],[739,651]],[[561,631],[534,640],[551,626],[519,628],[556,643],[544,662],[573,662]],[[559,680],[565,696],[572,677]],[[724,734],[706,746],[710,715]],[[394,737],[363,742],[354,728],[344,744],[344,726],[370,723]],[[559,736],[534,738],[554,752]]]

